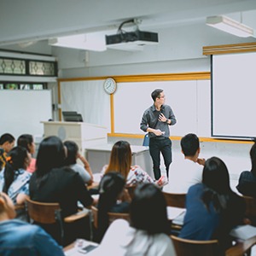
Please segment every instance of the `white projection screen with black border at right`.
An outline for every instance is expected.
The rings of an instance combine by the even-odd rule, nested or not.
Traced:
[[[256,53],[212,55],[212,137],[256,137]]]

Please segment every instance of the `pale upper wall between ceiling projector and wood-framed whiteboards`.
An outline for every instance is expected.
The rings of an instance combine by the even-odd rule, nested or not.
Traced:
[[[202,55],[203,46],[255,42],[255,38],[238,38],[205,25],[177,26],[155,30],[159,44],[143,51],[108,49],[104,52],[53,47],[60,78],[99,77],[148,73],[184,73],[210,71],[210,57]]]

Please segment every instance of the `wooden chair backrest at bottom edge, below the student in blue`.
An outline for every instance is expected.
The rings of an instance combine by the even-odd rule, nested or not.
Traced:
[[[220,255],[218,240],[195,241],[171,236],[177,256],[216,256]]]

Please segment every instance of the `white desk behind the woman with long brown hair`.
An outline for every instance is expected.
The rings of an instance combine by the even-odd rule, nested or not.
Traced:
[[[90,163],[93,173],[102,171],[102,167],[108,165],[113,144],[101,144],[85,148],[85,158]],[[148,147],[131,145],[132,165],[141,166],[148,175],[154,178],[153,164]]]

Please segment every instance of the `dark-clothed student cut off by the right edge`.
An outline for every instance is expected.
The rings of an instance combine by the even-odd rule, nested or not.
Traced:
[[[252,169],[251,171],[241,172],[236,189],[242,195],[256,197],[256,141],[250,150],[250,157]]]

